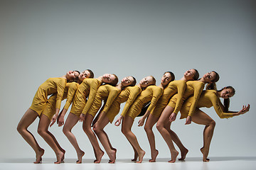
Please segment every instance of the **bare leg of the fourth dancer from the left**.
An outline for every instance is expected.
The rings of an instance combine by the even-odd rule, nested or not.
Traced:
[[[92,132],[92,129],[91,129],[92,120],[93,120],[93,116],[90,114],[86,114],[85,121],[82,123],[82,129],[85,131],[87,137],[89,138],[92,144],[92,147],[94,148],[95,156],[96,156],[95,163],[98,164],[100,163],[104,152],[102,151],[102,149],[100,149],[100,145],[97,142],[97,137],[95,133]]]

